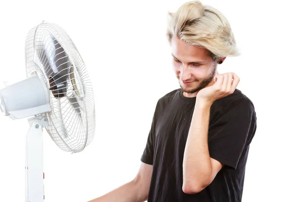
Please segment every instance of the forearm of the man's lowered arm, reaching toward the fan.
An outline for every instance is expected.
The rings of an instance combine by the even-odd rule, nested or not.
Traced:
[[[134,180],[88,202],[142,202],[145,200],[144,191]]]

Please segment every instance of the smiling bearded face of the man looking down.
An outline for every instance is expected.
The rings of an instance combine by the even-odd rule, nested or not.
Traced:
[[[181,89],[187,96],[194,96],[206,87],[216,74],[216,64],[207,49],[190,45],[173,37],[173,68]]]

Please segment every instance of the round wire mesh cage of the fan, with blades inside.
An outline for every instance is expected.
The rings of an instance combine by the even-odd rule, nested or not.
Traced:
[[[94,138],[95,104],[77,47],[61,27],[43,22],[27,34],[25,63],[27,77],[40,76],[50,89],[51,138],[64,151],[82,151]]]

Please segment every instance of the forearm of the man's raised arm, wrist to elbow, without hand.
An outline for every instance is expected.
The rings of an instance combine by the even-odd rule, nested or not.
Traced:
[[[183,159],[183,188],[204,186],[212,173],[208,149],[208,128],[211,104],[195,106]]]

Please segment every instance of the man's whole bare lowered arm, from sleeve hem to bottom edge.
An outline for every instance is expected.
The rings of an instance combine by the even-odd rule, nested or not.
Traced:
[[[153,166],[141,163],[132,181],[88,202],[143,202],[148,197],[152,170]]]

